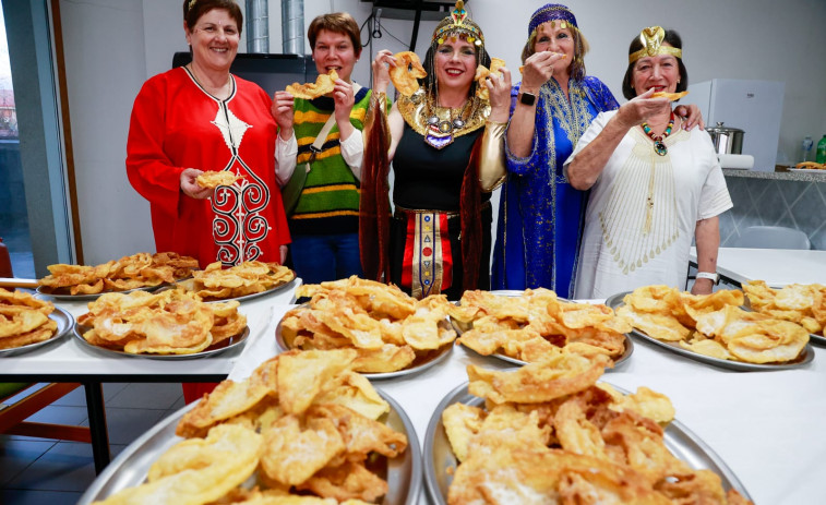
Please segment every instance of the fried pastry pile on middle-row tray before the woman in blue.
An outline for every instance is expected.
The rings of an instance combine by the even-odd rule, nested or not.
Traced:
[[[518,297],[465,291],[451,316],[467,328],[459,344],[483,356],[503,352],[527,362],[560,352],[615,360],[625,351],[623,334],[631,332],[631,325],[610,308],[560,301],[543,288],[527,289]]]

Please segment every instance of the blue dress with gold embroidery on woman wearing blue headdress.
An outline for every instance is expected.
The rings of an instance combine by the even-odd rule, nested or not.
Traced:
[[[511,91],[512,104],[518,94],[517,84]],[[571,187],[562,164],[594,118],[619,104],[608,86],[591,76],[571,80],[568,97],[553,79],[542,85],[528,157],[514,156],[505,142],[507,180],[500,196],[492,289],[542,287],[573,296],[588,193]]]

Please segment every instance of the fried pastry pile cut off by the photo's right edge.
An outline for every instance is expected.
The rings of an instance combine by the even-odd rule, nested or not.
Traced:
[[[774,289],[763,280],[743,285],[752,310],[778,320],[791,321],[811,334],[824,334],[826,327],[826,286],[792,284]]]

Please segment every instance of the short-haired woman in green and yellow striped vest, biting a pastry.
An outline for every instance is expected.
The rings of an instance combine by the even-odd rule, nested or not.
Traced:
[[[304,188],[289,216],[292,265],[304,282],[362,272],[358,243],[361,129],[370,89],[350,80],[361,56],[359,35],[350,14],[315,17],[308,29],[313,60],[319,74],[336,71],[335,88],[312,100],[278,92],[273,103],[279,128],[275,154],[279,184],[284,187],[294,170],[307,170]],[[328,121],[332,128],[325,129]],[[316,142],[322,130],[328,133]]]

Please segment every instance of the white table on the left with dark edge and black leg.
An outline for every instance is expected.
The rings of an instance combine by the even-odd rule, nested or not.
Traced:
[[[250,327],[248,340],[259,337],[268,327],[270,306],[295,302],[295,279],[285,289],[241,303]],[[48,299],[48,297],[41,297]],[[87,302],[53,300],[75,318],[88,312]],[[100,473],[111,459],[106,426],[103,383],[111,382],[220,382],[232,370],[243,347],[230,349],[208,359],[163,361],[107,354],[91,349],[68,335],[60,342],[43,346],[32,352],[0,358],[0,382],[69,382],[81,383],[86,393],[92,453],[95,470]]]

